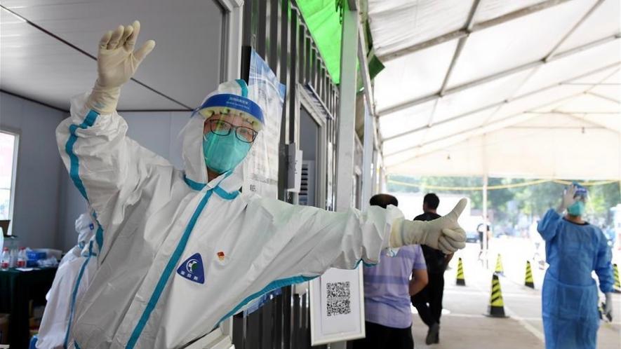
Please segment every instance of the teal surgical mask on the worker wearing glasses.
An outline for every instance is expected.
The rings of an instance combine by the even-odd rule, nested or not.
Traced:
[[[203,157],[210,170],[218,173],[233,170],[250,151],[251,143],[239,140],[235,132],[220,136],[213,132],[203,135]]]

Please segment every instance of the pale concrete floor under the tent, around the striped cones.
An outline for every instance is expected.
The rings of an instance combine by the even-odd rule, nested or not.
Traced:
[[[440,343],[425,345],[427,327],[413,311],[415,348],[545,348],[541,320],[541,283],[544,271],[533,266],[535,289],[523,286],[526,259],[532,256],[528,240],[496,239],[490,243],[490,268],[502,253],[505,276],[500,278],[505,313],[508,318],[486,317],[490,299],[492,271],[478,260],[479,245],[458,252],[445,274],[444,314],[441,320]],[[457,257],[464,261],[466,286],[455,285]],[[602,295],[603,297],[603,295]],[[613,296],[615,305],[612,323],[601,322],[598,348],[621,348],[621,296]]]

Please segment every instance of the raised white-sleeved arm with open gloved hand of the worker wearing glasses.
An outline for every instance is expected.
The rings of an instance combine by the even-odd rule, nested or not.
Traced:
[[[138,199],[154,165],[169,165],[128,138],[127,123],[115,111],[121,85],[154,46],[153,41],[147,41],[134,51],[139,32],[140,23],[134,22],[102,37],[95,87],[91,94],[72,99],[71,116],[56,129],[60,157],[69,176],[106,227],[112,212],[114,217],[122,217],[123,207]]]

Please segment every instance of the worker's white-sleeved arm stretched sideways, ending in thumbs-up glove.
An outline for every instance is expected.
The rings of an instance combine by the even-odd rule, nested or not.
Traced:
[[[265,215],[272,221],[269,245],[274,259],[266,263],[273,277],[321,275],[328,268],[353,269],[363,261],[378,263],[387,247],[425,244],[450,253],[465,246],[457,224],[464,203],[434,221],[406,221],[394,206],[369,207],[366,212],[328,212],[261,198],[248,205],[248,217]]]

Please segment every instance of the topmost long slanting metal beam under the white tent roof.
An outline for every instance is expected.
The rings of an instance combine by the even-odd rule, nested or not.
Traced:
[[[566,3],[567,1],[570,0],[548,0],[548,1],[543,1],[540,4],[535,4],[532,6],[528,6],[526,8],[522,8],[520,10],[517,11],[513,11],[511,13],[507,13],[506,15],[501,15],[500,17],[497,18],[493,18],[491,20],[486,20],[485,22],[481,22],[479,24],[473,25],[472,29],[469,32],[478,32],[479,30],[483,30],[489,27],[494,27],[495,25],[501,25],[502,23],[505,22],[509,22],[510,20],[515,20],[517,18],[521,18],[524,17],[526,15],[530,15],[532,13],[536,13],[539,11],[543,11],[547,8],[550,8],[552,6],[556,6],[559,4],[563,4]],[[425,48],[429,48],[432,46],[436,46],[439,45],[441,43],[445,43],[446,41],[451,41],[451,40],[455,40],[455,39],[460,39],[464,36],[467,36],[469,34],[469,32],[467,32],[464,29],[459,29],[459,30],[455,30],[454,32],[450,32],[447,34],[443,34],[441,36],[437,36],[434,39],[429,39],[427,41],[423,41],[422,43],[417,43],[413,46],[407,47],[407,48],[402,48],[401,50],[397,50],[394,53],[389,53],[387,55],[382,55],[380,58],[380,60],[384,63],[388,62],[389,60],[394,60],[395,58],[399,58],[403,55],[408,55],[410,53],[414,53],[416,51],[419,50],[424,50]]]

